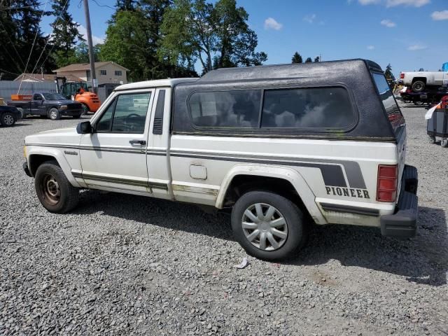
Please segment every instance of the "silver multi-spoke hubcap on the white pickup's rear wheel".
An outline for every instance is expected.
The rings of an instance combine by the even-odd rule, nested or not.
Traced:
[[[263,251],[280,248],[288,237],[285,218],[279,210],[269,204],[252,204],[244,211],[241,225],[246,239]]]

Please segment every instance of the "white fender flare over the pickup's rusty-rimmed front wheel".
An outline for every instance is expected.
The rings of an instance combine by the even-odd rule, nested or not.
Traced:
[[[71,174],[71,167],[69,165],[69,162],[67,162],[66,158],[62,154],[61,151],[55,149],[55,148],[38,148],[32,146],[31,148],[28,148],[28,167],[29,172],[32,176],[36,175],[36,171],[40,165],[42,165],[44,162],[48,162],[51,160],[55,160],[59,167],[61,167],[62,171],[64,172],[66,178],[69,180],[71,185],[73,187],[80,188],[81,186],[76,181],[76,179],[73,177],[73,174]]]

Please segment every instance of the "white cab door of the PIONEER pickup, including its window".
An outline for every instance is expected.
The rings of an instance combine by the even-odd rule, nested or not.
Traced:
[[[151,193],[146,167],[154,90],[119,92],[80,141],[82,178],[90,188]]]

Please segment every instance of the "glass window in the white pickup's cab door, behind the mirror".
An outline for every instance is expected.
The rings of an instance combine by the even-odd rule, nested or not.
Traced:
[[[150,99],[151,92],[118,95],[97,123],[97,132],[143,134]]]

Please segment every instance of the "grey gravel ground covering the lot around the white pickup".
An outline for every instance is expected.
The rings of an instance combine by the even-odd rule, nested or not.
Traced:
[[[50,214],[22,172],[28,134],[77,120],[0,128],[0,335],[448,335],[448,149],[403,109],[419,169],[419,232],[314,228],[296,260],[246,256],[225,214],[85,191]]]

